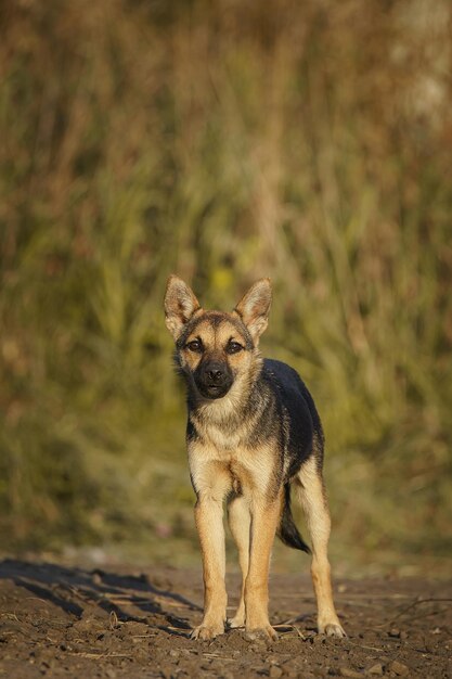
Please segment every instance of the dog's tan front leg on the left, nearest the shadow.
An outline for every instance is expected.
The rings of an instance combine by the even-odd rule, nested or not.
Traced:
[[[224,631],[227,591],[222,497],[199,492],[195,505],[204,574],[204,618],[192,639],[214,639]]]

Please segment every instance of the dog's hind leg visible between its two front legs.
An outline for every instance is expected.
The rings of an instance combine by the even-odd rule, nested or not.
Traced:
[[[245,582],[249,567],[249,530],[251,515],[249,503],[243,496],[233,496],[228,503],[228,523],[238,551],[238,563],[242,572],[242,590],[237,610],[229,620],[230,627],[245,625]]]

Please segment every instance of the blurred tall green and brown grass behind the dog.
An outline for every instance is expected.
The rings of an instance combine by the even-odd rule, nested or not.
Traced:
[[[270,276],[262,350],[321,411],[336,572],[450,574],[451,21],[1,1],[3,553],[198,565],[165,283],[231,309]]]

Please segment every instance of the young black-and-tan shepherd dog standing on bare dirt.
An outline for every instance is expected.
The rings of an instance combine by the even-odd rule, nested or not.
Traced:
[[[165,317],[188,387],[186,444],[204,575],[204,617],[193,639],[214,639],[225,625],[277,638],[268,614],[274,537],[311,552],[294,523],[290,487],[298,491],[312,543],[318,631],[345,636],[327,559],[331,520],[322,477],[322,424],[298,373],[262,359],[259,351],[271,298],[270,280],[261,279],[232,312],[206,311],[186,283],[176,276],[168,279]],[[241,599],[231,620],[224,501],[242,571]]]

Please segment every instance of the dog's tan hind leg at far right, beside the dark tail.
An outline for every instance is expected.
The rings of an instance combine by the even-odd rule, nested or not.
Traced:
[[[331,518],[322,473],[314,456],[301,466],[297,486],[312,542],[311,575],[318,605],[318,630],[319,633],[331,637],[345,637],[333,603],[327,556]]]

